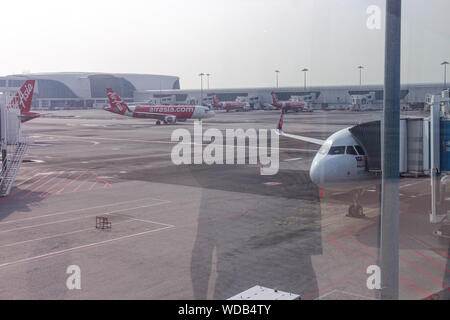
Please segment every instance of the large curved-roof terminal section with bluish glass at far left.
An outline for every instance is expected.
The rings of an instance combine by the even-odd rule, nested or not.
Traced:
[[[26,80],[36,80],[32,108],[92,108],[107,102],[106,88],[113,88],[125,101],[137,91],[180,89],[179,77],[152,74],[57,72],[0,77],[4,100],[14,95]]]

